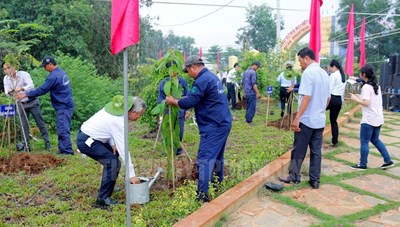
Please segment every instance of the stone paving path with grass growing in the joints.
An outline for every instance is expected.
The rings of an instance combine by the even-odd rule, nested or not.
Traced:
[[[262,189],[223,221],[223,226],[400,226],[400,114],[385,112],[381,140],[395,166],[379,167],[383,158],[370,144],[368,170],[352,170],[360,154],[359,118],[340,128],[340,146],[324,138],[320,188],[308,184],[309,161],[302,168],[302,183],[285,185],[281,192]],[[275,179],[271,179],[277,182]]]

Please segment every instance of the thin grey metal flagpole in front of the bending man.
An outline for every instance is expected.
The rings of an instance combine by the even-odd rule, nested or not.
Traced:
[[[126,226],[131,226],[131,199],[129,178],[129,151],[128,151],[128,50],[124,49],[124,152],[125,152],[125,203]]]

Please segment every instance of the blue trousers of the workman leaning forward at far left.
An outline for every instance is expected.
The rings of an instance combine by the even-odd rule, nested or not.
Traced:
[[[74,108],[56,110],[58,150],[61,153],[74,153],[71,143],[71,119]]]

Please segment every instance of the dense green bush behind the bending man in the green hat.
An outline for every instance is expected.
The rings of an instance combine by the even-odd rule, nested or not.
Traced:
[[[103,108],[113,96],[123,93],[121,79],[112,80],[109,77],[99,76],[95,66],[86,60],[61,53],[54,57],[58,66],[67,72],[71,81],[75,102],[72,130],[77,130],[84,121]],[[48,74],[42,68],[36,68],[30,73],[35,87],[39,87]],[[55,111],[50,103],[50,95],[41,96],[40,103],[47,126],[55,129]]]

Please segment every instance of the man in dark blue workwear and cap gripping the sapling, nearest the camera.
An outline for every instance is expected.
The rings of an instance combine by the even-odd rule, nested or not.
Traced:
[[[199,56],[189,56],[184,71],[195,79],[192,90],[180,100],[172,96],[167,96],[165,100],[168,105],[181,109],[194,107],[200,132],[197,199],[209,202],[208,185],[213,180],[213,173],[217,176],[216,183],[224,178],[224,150],[232,127],[232,116],[221,81],[205,68]]]

